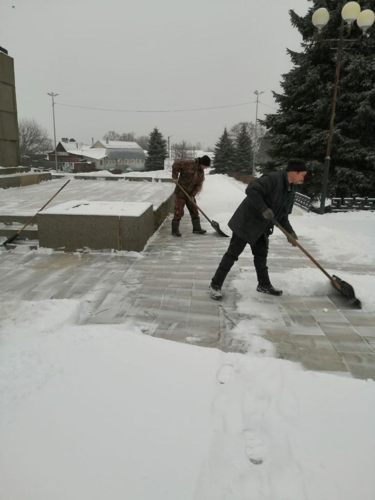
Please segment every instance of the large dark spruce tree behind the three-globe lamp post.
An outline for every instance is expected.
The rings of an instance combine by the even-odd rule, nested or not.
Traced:
[[[282,75],[283,93],[273,92],[279,105],[261,123],[270,131],[272,161],[266,169],[284,164],[290,157],[308,162],[304,192],[318,197],[329,128],[336,65],[338,28],[345,2],[331,0],[330,19],[317,35],[311,23],[324,0],[311,0],[304,16],[289,10],[291,24],[301,33],[302,51],[287,50],[293,68]],[[375,10],[375,0],[366,7]],[[360,36],[354,22],[344,42],[338,81],[331,145],[328,195],[375,195],[375,28]],[[333,48],[333,50],[332,50]],[[350,50],[345,50],[350,48]]]

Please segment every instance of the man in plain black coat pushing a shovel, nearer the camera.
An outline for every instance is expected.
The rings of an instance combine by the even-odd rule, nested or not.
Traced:
[[[281,295],[282,290],[274,288],[268,276],[268,236],[273,232],[273,223],[270,219],[277,220],[291,236],[297,239],[288,215],[294,203],[294,184],[303,182],[306,170],[304,161],[291,158],[284,170],[266,173],[248,184],[245,199],[228,222],[232,237],[209,285],[212,298],[216,300],[222,298],[222,283],[247,243],[254,256],[258,280],[256,290],[271,295]]]

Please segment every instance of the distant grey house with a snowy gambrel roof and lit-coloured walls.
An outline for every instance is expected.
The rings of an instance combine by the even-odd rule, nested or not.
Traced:
[[[144,170],[144,160],[146,155],[143,149],[136,142],[125,140],[98,140],[90,147],[105,151],[105,157],[95,160],[98,170]],[[86,152],[88,154],[88,151]]]

